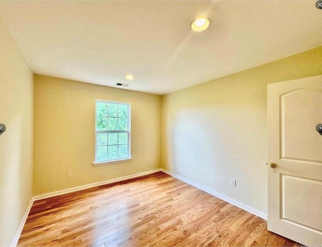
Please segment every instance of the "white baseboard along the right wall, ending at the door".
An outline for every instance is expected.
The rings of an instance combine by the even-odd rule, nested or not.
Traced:
[[[194,186],[194,187],[196,187],[196,188],[198,188],[198,189],[200,189],[200,190],[202,190],[202,191],[204,191],[204,192],[207,192],[207,193],[209,193],[210,195],[213,195],[213,196],[215,196],[215,197],[218,197],[218,198],[220,198],[221,200],[224,200],[224,201],[226,201],[226,202],[229,202],[229,203],[230,203],[230,204],[232,204],[232,205],[237,206],[238,208],[244,209],[244,210],[246,210],[246,211],[248,211],[248,212],[250,212],[250,213],[252,213],[252,214],[257,215],[258,217],[261,217],[262,219],[267,220],[267,214],[266,214],[266,213],[263,213],[263,212],[261,212],[261,211],[259,211],[259,210],[255,209],[255,208],[252,208],[252,207],[247,206],[247,205],[245,205],[245,204],[243,204],[243,203],[241,203],[241,202],[238,202],[238,201],[236,201],[236,200],[234,200],[234,199],[231,199],[231,198],[229,198],[229,197],[226,197],[226,196],[224,196],[224,195],[222,195],[222,194],[220,194],[220,193],[217,193],[217,192],[215,192],[215,191],[213,191],[213,190],[210,190],[210,189],[208,189],[208,188],[206,188],[206,187],[204,187],[204,186],[198,185],[198,184],[196,184],[196,183],[194,183],[194,182],[192,182],[192,181],[190,181],[190,180],[188,180],[188,179],[185,179],[185,178],[183,178],[183,177],[181,177],[181,176],[179,176],[179,175],[177,175],[177,174],[171,173],[171,172],[169,172],[169,171],[167,171],[167,170],[164,170],[164,169],[160,169],[160,170],[161,170],[162,172],[164,172],[164,173],[166,173],[166,174],[168,174],[168,175],[170,175],[170,176],[172,176],[172,177],[176,178],[176,179],[179,179],[179,180],[181,180],[181,181],[183,181],[183,182],[185,182],[185,183],[187,183],[187,184],[190,184],[190,185],[192,185],[192,186]]]

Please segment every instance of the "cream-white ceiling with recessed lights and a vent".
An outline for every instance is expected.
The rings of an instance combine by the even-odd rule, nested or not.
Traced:
[[[155,94],[322,45],[315,1],[2,1],[0,18],[34,73]]]

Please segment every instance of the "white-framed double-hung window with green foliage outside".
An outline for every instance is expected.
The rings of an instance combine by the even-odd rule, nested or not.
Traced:
[[[130,104],[96,101],[95,162],[131,159]]]

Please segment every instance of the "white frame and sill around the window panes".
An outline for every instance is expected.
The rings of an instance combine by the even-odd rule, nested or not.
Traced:
[[[97,128],[97,103],[107,103],[107,104],[118,104],[118,105],[127,105],[127,131],[126,130],[96,130]],[[119,102],[119,101],[110,101],[110,100],[96,100],[95,101],[95,161],[93,162],[93,166],[104,166],[105,164],[111,164],[111,163],[119,163],[119,162],[126,162],[131,161],[131,103],[127,102]],[[97,161],[97,134],[98,133],[119,133],[119,132],[127,132],[127,153],[128,157],[126,158],[116,158],[116,159],[110,159],[110,160],[103,160],[103,161]],[[107,137],[108,138],[108,137]]]

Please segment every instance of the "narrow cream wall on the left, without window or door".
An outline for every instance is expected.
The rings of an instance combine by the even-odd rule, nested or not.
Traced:
[[[33,74],[0,20],[0,246],[10,246],[32,197]]]

